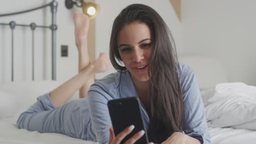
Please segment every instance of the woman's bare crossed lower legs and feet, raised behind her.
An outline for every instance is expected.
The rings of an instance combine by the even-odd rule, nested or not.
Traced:
[[[78,48],[79,53],[79,74],[74,76],[72,79],[63,83],[60,87],[54,89],[53,92],[50,93],[50,98],[55,107],[59,107],[65,104],[72,95],[79,91],[79,97],[85,98],[87,97],[87,92],[94,83],[94,75],[98,72],[95,72],[94,69],[100,70],[100,72],[104,72],[108,69],[108,61],[106,54],[101,54],[101,56],[91,64],[97,62],[102,65],[100,67],[91,68],[90,59],[88,55],[88,47],[87,47],[87,34],[89,29],[89,18],[88,16],[82,13],[74,14],[74,26],[75,26],[75,44]],[[104,62],[105,61],[105,62]],[[88,72],[86,72],[88,71]]]

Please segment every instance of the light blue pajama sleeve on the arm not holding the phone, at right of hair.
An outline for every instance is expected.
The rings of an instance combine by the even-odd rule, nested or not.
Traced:
[[[200,140],[203,144],[211,143],[208,133],[205,107],[193,70],[189,67],[182,73],[181,86],[184,101],[183,131],[185,134]]]

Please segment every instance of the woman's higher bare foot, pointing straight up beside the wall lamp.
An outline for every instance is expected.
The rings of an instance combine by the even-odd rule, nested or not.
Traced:
[[[89,17],[83,13],[74,13],[74,27],[75,27],[75,44],[78,51],[85,49],[87,51],[87,35],[89,29]]]

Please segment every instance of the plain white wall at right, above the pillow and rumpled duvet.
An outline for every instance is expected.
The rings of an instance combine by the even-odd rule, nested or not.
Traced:
[[[254,0],[182,1],[183,53],[216,58],[230,82],[256,86],[255,5]]]

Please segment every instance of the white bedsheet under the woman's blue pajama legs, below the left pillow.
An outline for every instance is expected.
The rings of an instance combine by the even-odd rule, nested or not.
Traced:
[[[56,133],[38,133],[18,129],[15,125],[18,116],[0,119],[0,143],[67,143],[67,144],[95,144],[96,142],[74,139],[72,137]]]

